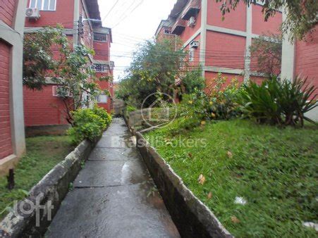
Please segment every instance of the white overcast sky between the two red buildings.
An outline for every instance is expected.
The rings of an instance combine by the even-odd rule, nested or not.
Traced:
[[[98,2],[103,26],[112,29],[111,61],[115,62],[114,80],[118,81],[125,67],[130,65],[135,45],[154,36],[160,21],[168,17],[176,0],[98,0]]]

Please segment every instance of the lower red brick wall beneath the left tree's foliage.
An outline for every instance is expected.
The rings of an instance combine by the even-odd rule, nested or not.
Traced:
[[[49,84],[42,91],[23,87],[25,126],[68,124],[63,101],[53,96],[53,86]]]

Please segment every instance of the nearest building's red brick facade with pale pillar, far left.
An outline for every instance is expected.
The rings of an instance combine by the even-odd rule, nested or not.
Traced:
[[[0,6],[0,175],[25,152],[23,27],[26,0]]]

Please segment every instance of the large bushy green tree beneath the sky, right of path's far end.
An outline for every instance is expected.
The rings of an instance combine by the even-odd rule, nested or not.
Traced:
[[[119,84],[118,96],[136,107],[141,106],[142,101],[155,92],[173,96],[185,55],[180,42],[174,38],[144,42],[135,51],[133,63]]]

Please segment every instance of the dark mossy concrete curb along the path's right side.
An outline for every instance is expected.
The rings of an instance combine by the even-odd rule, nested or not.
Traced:
[[[150,146],[147,140],[136,132],[137,149],[144,159],[149,173],[157,184],[159,192],[173,222],[182,237],[233,237],[216,216],[185,187],[181,177],[173,172],[164,158]]]

